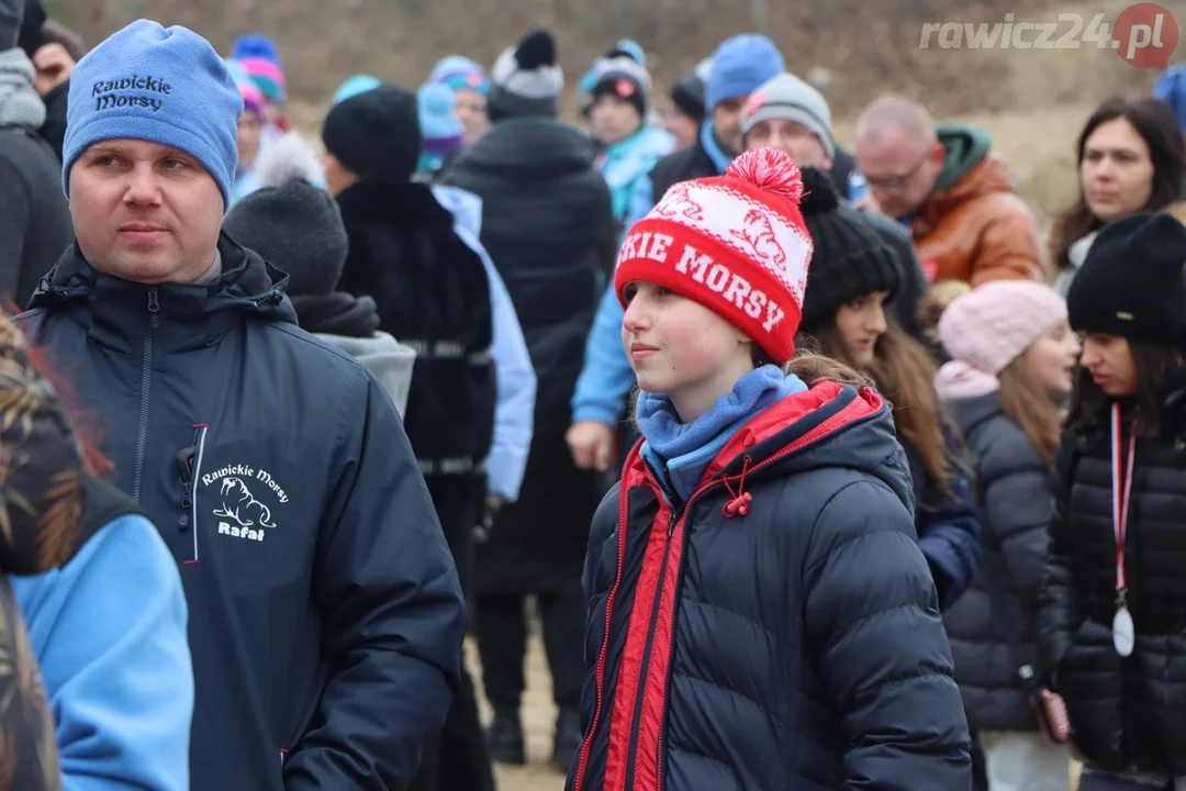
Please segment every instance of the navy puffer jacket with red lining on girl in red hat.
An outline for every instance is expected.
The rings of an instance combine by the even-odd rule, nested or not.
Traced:
[[[968,789],[968,727],[881,398],[830,382],[784,398],[702,481],[669,506],[636,447],[598,510],[567,789]]]

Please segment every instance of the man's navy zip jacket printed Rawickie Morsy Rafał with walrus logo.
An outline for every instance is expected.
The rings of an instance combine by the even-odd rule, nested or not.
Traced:
[[[458,682],[457,570],[383,388],[219,251],[210,285],[144,286],[71,248],[24,327],[180,564],[191,787],[403,789]]]

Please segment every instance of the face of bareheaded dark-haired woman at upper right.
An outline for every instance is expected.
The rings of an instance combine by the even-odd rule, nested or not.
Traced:
[[[1149,146],[1128,119],[1104,121],[1088,136],[1079,185],[1091,213],[1105,223],[1140,211],[1153,194]]]

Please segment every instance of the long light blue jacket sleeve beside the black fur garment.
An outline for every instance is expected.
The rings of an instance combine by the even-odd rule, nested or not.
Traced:
[[[495,407],[495,438],[486,457],[486,476],[490,491],[514,503],[523,485],[535,430],[535,368],[511,295],[479,241],[482,198],[455,186],[436,184],[432,190],[436,202],[453,212],[453,230],[482,259],[486,280],[490,281],[490,312],[495,325],[490,356],[495,361],[498,403]]]

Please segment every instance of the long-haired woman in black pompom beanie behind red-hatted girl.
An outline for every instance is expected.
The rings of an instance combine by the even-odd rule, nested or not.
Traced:
[[[955,423],[935,393],[936,365],[886,314],[901,287],[893,249],[860,210],[840,204],[827,174],[804,168],[803,218],[815,255],[802,330],[828,357],[867,375],[893,406],[914,487],[914,527],[939,604],[963,592],[980,560],[980,523]]]

